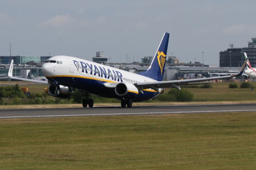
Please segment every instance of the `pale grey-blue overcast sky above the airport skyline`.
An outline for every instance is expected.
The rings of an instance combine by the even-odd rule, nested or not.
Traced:
[[[168,56],[219,64],[219,51],[256,37],[255,0],[0,0],[0,55],[70,55],[111,62],[152,56],[164,32]],[[132,59],[130,59],[132,61]]]

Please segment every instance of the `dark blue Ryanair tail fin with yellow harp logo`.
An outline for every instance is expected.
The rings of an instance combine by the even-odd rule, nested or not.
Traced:
[[[165,32],[150,67],[146,71],[139,73],[140,75],[150,77],[157,81],[163,81],[168,42],[169,33]]]

